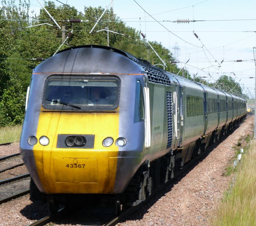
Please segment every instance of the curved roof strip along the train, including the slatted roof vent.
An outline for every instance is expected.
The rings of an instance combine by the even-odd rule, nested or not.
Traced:
[[[178,79],[178,80],[183,80],[183,81],[188,82],[190,84],[199,85],[201,87],[207,88],[208,90],[210,88],[210,89],[212,89],[212,91],[215,91],[215,92],[219,91],[219,92],[224,93],[224,94],[230,94],[230,93],[224,92],[222,90],[206,86],[206,85],[204,85],[202,83],[186,79],[186,78],[181,77],[179,75],[176,75],[174,73],[164,71],[163,69],[158,68],[158,67],[150,64],[146,60],[139,59],[139,58],[133,56],[132,54],[130,54],[128,52],[125,52],[123,50],[116,49],[116,48],[113,48],[113,47],[110,47],[110,46],[103,46],[103,45],[81,45],[81,46],[75,46],[75,47],[70,47],[70,48],[67,48],[67,49],[63,49],[63,50],[59,51],[57,53],[57,55],[59,53],[63,53],[63,52],[68,51],[68,50],[80,49],[80,48],[98,48],[98,49],[105,49],[105,50],[109,50],[109,51],[113,51],[113,52],[119,53],[119,54],[121,54],[121,55],[123,55],[123,56],[125,56],[125,57],[127,57],[129,59],[131,59],[132,61],[136,62],[140,67],[142,67],[145,70],[145,72],[147,73],[147,75],[148,75],[148,80],[150,82],[152,82],[152,83],[171,86],[171,81],[168,78],[168,76],[173,76],[173,77],[176,77],[176,79]],[[232,96],[234,96],[236,98],[241,98],[241,97],[238,97],[238,96],[236,96],[234,94],[230,94],[230,95],[232,95]],[[244,98],[241,98],[241,99],[244,100]]]

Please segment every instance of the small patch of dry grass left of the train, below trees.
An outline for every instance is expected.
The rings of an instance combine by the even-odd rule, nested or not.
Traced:
[[[12,125],[0,128],[0,144],[20,141],[22,125]]]

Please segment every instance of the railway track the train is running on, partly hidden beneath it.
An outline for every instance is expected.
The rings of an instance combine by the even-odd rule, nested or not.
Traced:
[[[249,116],[250,117],[250,116]],[[248,117],[247,117],[248,118]],[[238,126],[239,127],[239,126]],[[238,128],[237,127],[237,128]],[[237,129],[236,128],[236,129]],[[232,132],[229,132],[228,135],[232,134],[235,130],[233,130]],[[181,170],[179,170],[177,173],[176,173],[176,176],[174,178],[172,178],[172,180],[169,180],[167,183],[165,183],[164,185],[160,185],[158,188],[156,188],[152,194],[146,199],[146,201],[144,202],[141,202],[139,205],[137,206],[134,206],[134,207],[131,207],[129,209],[127,209],[124,213],[122,213],[121,215],[119,216],[116,216],[116,215],[108,215],[108,219],[109,220],[106,220],[105,222],[103,222],[103,219],[104,217],[99,217],[99,215],[101,216],[101,212],[98,213],[97,215],[97,220],[95,220],[94,222],[93,219],[93,214],[88,214],[87,211],[88,210],[85,210],[85,212],[91,216],[92,219],[90,220],[87,220],[85,219],[83,222],[81,222],[82,224],[84,225],[104,225],[104,226],[114,226],[116,225],[117,223],[119,222],[122,222],[124,221],[125,218],[129,217],[130,215],[132,215],[132,213],[138,209],[140,209],[141,206],[145,205],[146,202],[150,201],[151,199],[153,199],[159,192],[161,192],[166,186],[169,186],[170,184],[172,184],[176,179],[177,177],[181,176],[183,173],[188,173],[199,161],[202,161],[205,157],[207,157],[208,154],[210,154],[210,152],[216,148],[222,141],[224,141],[228,135],[222,137],[221,139],[219,139],[215,144],[212,144],[210,147],[207,148],[206,151],[204,152],[201,152],[201,154],[199,156],[197,156],[195,159],[193,159],[191,162],[189,162],[188,164],[186,164]],[[66,209],[67,210],[67,209]],[[50,223],[50,222],[56,222],[56,223],[63,223],[63,217],[61,216],[64,216],[64,217],[68,217],[68,215],[70,216],[70,213],[69,211],[66,211],[66,215],[62,215],[62,213],[64,212],[64,209],[61,209],[61,211],[59,211],[56,215],[48,215],[47,217],[44,217],[42,218],[41,220],[37,221],[37,222],[34,222],[33,224],[31,224],[30,226],[35,226],[35,225],[45,225],[47,223]],[[74,211],[72,211],[74,212]],[[80,215],[83,215],[83,210],[79,210],[78,213],[75,213],[75,214],[78,214],[78,216]],[[93,213],[93,210],[92,210],[92,213]],[[95,213],[94,213],[95,214]],[[96,210],[96,214],[97,214],[97,210]],[[84,215],[83,215],[84,216]],[[87,217],[86,217],[87,218]],[[61,219],[60,222],[56,219]],[[77,218],[76,218],[77,219]],[[65,221],[65,220],[64,220]],[[69,220],[67,220],[69,221]],[[67,223],[65,221],[65,223]],[[71,223],[72,224],[72,221],[71,222],[68,222],[68,223]],[[76,223],[75,223],[76,224]]]

